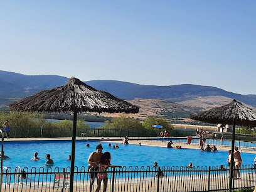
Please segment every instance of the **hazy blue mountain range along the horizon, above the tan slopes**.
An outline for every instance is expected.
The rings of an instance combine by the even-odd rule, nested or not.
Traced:
[[[67,77],[58,75],[23,75],[0,70],[0,105],[8,105],[13,100],[28,97],[40,90],[64,85],[67,81]],[[85,83],[97,90],[107,91],[125,100],[166,100],[166,102],[176,102],[184,105],[189,105],[188,101],[193,101],[195,105],[198,105],[200,104],[200,99],[205,100],[204,104],[207,104],[208,98],[211,98],[211,100],[215,98],[215,103],[218,106],[218,98],[221,101],[223,101],[223,98],[224,100],[227,98],[227,100],[237,99],[247,105],[256,107],[256,95],[241,95],[211,86],[191,84],[169,86],[139,85],[115,80],[92,80]],[[197,102],[195,102],[196,100]],[[212,104],[212,102],[210,103]],[[210,103],[209,105],[211,105]]]

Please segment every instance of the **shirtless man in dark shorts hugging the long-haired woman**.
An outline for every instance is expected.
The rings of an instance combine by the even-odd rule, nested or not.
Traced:
[[[99,172],[100,159],[103,155],[102,153],[102,144],[96,146],[96,151],[92,152],[88,158],[88,172],[90,173],[90,192],[92,191],[92,186],[94,179],[97,178]]]

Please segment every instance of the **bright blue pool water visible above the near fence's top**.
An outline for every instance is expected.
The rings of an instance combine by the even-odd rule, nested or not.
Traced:
[[[85,147],[87,144],[90,147]],[[77,141],[75,166],[81,168],[88,166],[87,160],[90,153],[95,151],[95,147],[99,141]],[[115,144],[114,142],[111,143]],[[109,142],[102,142],[103,152],[109,151],[112,154],[113,165],[120,166],[153,166],[157,161],[159,166],[186,166],[189,162],[193,166],[215,166],[224,164],[228,158],[227,151],[218,152],[201,152],[199,149],[173,149],[166,147],[136,146],[119,144],[119,149],[108,147]],[[51,159],[55,162],[53,168],[67,168],[70,161],[66,161],[68,155],[71,154],[72,141],[11,141],[4,142],[5,155],[10,159],[5,159],[3,166],[16,168],[21,166],[24,168],[45,166],[45,154],[51,154]],[[32,161],[34,152],[38,152],[39,161]],[[242,152],[243,164],[252,164],[255,154],[247,154]]]

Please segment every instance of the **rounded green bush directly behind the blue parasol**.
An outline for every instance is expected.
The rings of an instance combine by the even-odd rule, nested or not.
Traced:
[[[147,117],[147,119],[144,120],[144,122],[142,122],[142,125],[147,129],[155,129],[154,127],[152,127],[152,125],[157,125],[157,124],[162,125],[166,130],[174,129],[173,125],[171,125],[171,122],[169,122],[169,120],[164,119],[162,117],[160,118]]]

